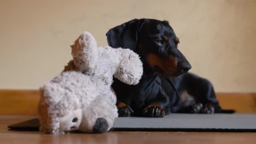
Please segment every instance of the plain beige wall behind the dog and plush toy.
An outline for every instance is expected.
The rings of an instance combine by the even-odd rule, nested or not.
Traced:
[[[218,92],[256,92],[256,0],[1,0],[0,89],[36,89],[59,74],[84,30],[168,20],[191,72]]]

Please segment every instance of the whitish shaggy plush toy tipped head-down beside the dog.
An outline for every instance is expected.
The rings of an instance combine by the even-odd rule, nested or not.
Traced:
[[[40,131],[107,132],[118,116],[112,77],[135,85],[143,72],[142,63],[129,49],[97,47],[88,32],[71,47],[73,60],[40,88]]]

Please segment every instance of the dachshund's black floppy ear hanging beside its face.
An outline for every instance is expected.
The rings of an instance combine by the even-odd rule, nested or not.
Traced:
[[[112,48],[129,48],[136,51],[137,34],[143,19],[133,19],[107,32],[107,42]]]

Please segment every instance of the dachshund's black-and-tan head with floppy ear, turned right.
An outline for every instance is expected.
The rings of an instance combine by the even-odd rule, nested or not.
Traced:
[[[107,32],[113,48],[129,48],[141,56],[144,71],[155,71],[164,77],[178,77],[191,69],[178,50],[176,37],[168,21],[133,19]]]

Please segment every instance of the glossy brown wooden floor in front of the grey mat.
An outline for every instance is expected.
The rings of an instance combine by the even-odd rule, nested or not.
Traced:
[[[0,144],[256,144],[256,133],[108,132],[103,134],[44,134],[12,131],[7,125],[32,115],[0,115]]]

